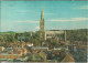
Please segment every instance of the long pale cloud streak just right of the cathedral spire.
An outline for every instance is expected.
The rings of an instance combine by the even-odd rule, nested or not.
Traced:
[[[65,18],[64,18],[64,19],[57,19],[57,20],[56,20],[56,19],[55,19],[55,20],[52,19],[52,20],[48,20],[48,21],[66,22],[66,21],[87,21],[87,20],[88,20],[88,18],[70,18],[70,19],[65,19]]]

